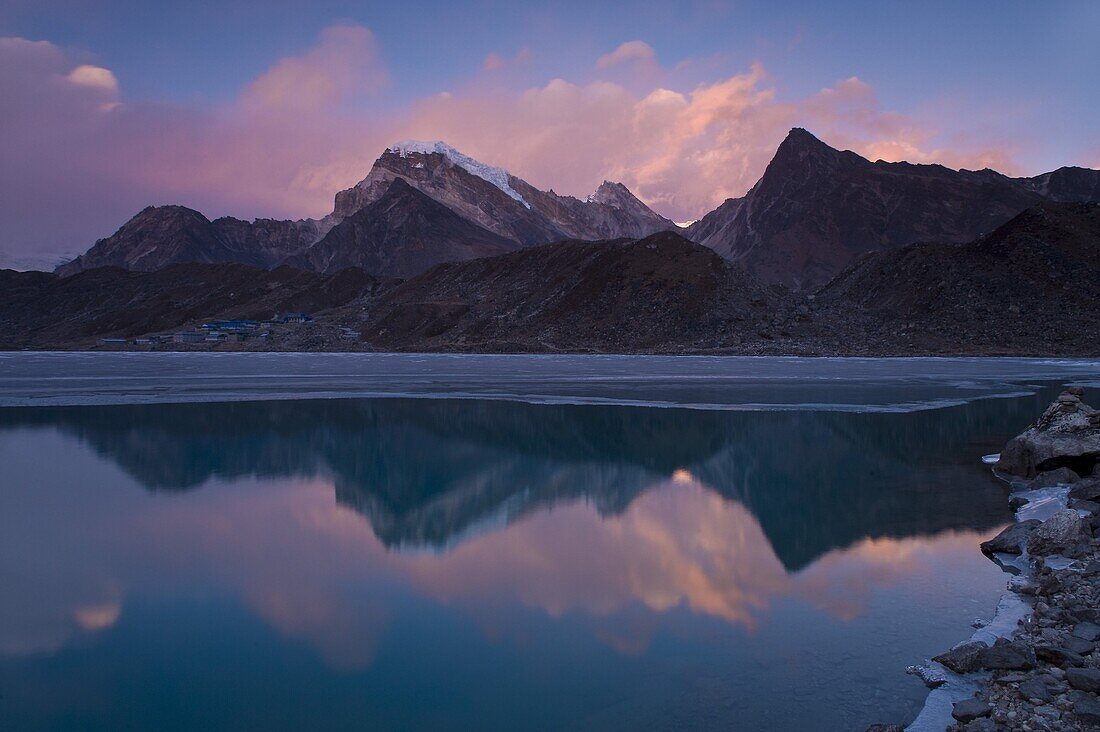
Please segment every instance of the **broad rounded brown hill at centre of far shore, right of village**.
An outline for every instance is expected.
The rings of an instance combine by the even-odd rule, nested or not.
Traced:
[[[783,298],[682,237],[453,262],[384,294],[363,339],[426,350],[675,350],[758,340]]]

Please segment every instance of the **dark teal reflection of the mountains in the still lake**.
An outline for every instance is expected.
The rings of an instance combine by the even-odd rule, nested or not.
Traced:
[[[449,547],[578,499],[614,515],[679,471],[747,506],[795,569],[865,536],[1007,521],[967,443],[998,445],[1043,398],[901,415],[418,400],[135,405],[3,409],[0,428],[56,427],[154,491],[329,478],[389,547]]]

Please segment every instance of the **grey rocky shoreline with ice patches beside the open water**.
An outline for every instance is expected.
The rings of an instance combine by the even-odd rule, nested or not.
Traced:
[[[911,668],[933,691],[906,729],[1100,730],[1100,411],[1082,396],[990,456],[1018,512],[981,550],[1013,577],[987,627]]]

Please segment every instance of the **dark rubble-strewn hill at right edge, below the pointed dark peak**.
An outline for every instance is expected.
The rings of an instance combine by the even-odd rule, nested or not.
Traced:
[[[1044,203],[963,245],[869,254],[816,303],[823,317],[898,350],[1096,352],[1100,205]]]

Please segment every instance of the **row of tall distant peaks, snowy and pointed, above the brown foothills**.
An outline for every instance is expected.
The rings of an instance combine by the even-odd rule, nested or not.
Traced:
[[[743,197],[680,229],[623,184],[584,199],[544,192],[443,142],[400,142],[322,219],[206,219],[146,208],[57,269],[153,271],[183,262],[360,266],[408,277],[443,262],[560,240],[640,239],[678,231],[766,284],[811,292],[861,254],[917,242],[963,243],[1043,201],[1100,200],[1100,171],[1063,167],[1030,178],[996,171],[871,162],[794,129]]]

